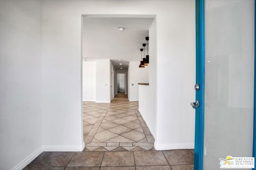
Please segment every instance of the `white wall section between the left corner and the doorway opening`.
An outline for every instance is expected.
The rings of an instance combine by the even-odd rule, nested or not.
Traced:
[[[72,11],[71,6],[61,1],[42,1],[42,137],[45,151],[84,148],[82,20],[80,12],[76,11],[79,4],[75,6]]]

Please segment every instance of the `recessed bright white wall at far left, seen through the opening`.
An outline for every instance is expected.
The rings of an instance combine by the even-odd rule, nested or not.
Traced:
[[[96,62],[83,60],[83,101],[96,100]]]

